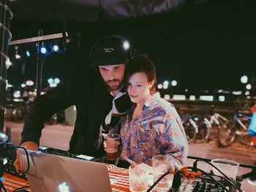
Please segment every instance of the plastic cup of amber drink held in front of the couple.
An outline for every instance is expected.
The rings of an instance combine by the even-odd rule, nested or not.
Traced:
[[[107,147],[106,150],[106,160],[115,161],[118,157],[118,145],[120,135],[119,134],[105,134],[105,143]]]

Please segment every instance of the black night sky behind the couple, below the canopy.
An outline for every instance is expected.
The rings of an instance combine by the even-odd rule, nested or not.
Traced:
[[[189,5],[178,12],[126,20],[105,20],[95,23],[68,22],[67,31],[80,31],[80,47],[71,54],[52,54],[45,58],[43,82],[48,77],[64,78],[69,69],[88,65],[89,47],[105,34],[126,37],[136,53],[146,53],[157,67],[158,82],[178,80],[184,90],[239,90],[240,77],[246,74],[256,84],[256,6],[253,1],[212,0],[200,6]],[[36,37],[63,31],[57,21],[13,19],[12,40]],[[13,47],[10,47],[10,51]],[[16,61],[8,69],[14,85],[34,79],[36,61]],[[23,74],[20,74],[22,71]]]

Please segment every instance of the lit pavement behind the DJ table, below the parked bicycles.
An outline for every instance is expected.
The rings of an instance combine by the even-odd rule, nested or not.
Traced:
[[[23,129],[23,123],[15,123],[12,121],[4,121],[4,128],[11,127],[11,142],[14,145],[20,143],[20,133]],[[40,145],[53,147],[60,150],[69,149],[69,140],[73,132],[72,126],[63,126],[61,124],[45,125],[42,130],[42,137],[40,139]],[[216,141],[210,141],[208,143],[192,143],[189,144],[189,155],[200,158],[225,158],[232,161],[237,161],[239,164],[256,164],[256,147],[250,147],[241,145],[238,142],[233,143],[229,147],[217,147]],[[188,158],[185,165],[192,166],[193,159]],[[211,167],[205,163],[200,163],[200,169],[209,172]],[[251,169],[239,167],[238,175],[250,172]],[[244,191],[255,192],[256,185],[250,185],[247,183],[247,179],[241,183],[241,188]]]

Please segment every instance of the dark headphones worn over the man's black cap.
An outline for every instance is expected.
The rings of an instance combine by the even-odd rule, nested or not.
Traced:
[[[129,41],[127,39],[125,39],[124,37],[121,37],[120,35],[111,34],[111,35],[107,35],[105,37],[101,37],[100,39],[97,40],[97,42],[94,43],[94,45],[92,45],[91,50],[90,50],[90,55],[89,55],[90,63],[92,63],[94,50],[97,48],[97,46],[101,45],[103,42],[105,42],[105,40],[110,40],[110,39],[121,42],[123,46],[125,46],[125,45],[129,46],[127,48],[124,48],[124,47],[118,47],[118,48],[120,48],[120,49],[123,48],[127,52],[127,59],[132,58],[132,49],[130,47]]]

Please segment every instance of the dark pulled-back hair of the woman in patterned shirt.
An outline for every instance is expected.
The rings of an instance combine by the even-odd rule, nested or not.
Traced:
[[[125,88],[127,89],[129,78],[132,77],[133,74],[138,72],[145,73],[148,77],[148,82],[154,80],[154,85],[150,89],[150,93],[151,95],[156,93],[156,68],[146,54],[135,55],[133,58],[129,59],[129,64],[127,66],[126,77],[124,81],[124,85],[126,86]]]

